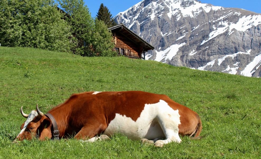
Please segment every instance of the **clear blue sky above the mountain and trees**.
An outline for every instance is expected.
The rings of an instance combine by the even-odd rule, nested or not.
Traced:
[[[97,15],[101,3],[103,3],[111,12],[112,16],[116,16],[119,12],[123,12],[142,0],[84,0],[88,6],[92,17]],[[261,0],[202,0],[201,3],[210,3],[214,6],[243,8],[256,13],[261,13]]]

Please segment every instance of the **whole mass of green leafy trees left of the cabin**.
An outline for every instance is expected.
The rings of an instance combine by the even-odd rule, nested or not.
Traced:
[[[83,0],[0,0],[0,43],[83,56],[115,56],[111,32]]]

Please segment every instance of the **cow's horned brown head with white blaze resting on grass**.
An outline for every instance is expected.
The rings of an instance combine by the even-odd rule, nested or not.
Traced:
[[[36,110],[32,110],[30,114],[25,114],[23,112],[23,107],[21,107],[21,114],[27,120],[21,126],[21,132],[15,138],[15,141],[32,139],[33,137],[38,137],[40,140],[47,138],[52,138],[51,133],[51,120],[46,117],[38,109],[36,105]]]

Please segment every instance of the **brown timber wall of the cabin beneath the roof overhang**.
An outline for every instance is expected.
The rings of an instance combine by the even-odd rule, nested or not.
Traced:
[[[141,58],[142,51],[140,51],[141,49],[139,48],[139,46],[137,46],[134,42],[132,42],[131,40],[129,40],[127,37],[125,37],[119,32],[112,32],[112,33],[113,33],[115,48],[119,48],[119,50],[124,49],[125,54],[127,54],[129,50],[130,51],[129,56]]]

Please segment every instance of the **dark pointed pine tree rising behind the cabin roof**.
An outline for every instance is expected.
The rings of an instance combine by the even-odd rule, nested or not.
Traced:
[[[109,9],[101,3],[99,11],[97,13],[98,20],[104,21],[108,28],[116,25],[113,16],[111,15]]]

